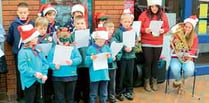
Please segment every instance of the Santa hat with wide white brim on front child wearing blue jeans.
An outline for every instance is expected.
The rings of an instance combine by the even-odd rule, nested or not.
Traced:
[[[105,28],[100,27],[97,28],[97,31],[94,31],[91,35],[93,39],[104,39],[108,40],[108,32],[106,31]]]

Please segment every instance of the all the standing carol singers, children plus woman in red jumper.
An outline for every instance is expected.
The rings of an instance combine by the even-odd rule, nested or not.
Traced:
[[[108,20],[107,15],[95,13],[95,30],[88,33],[91,35],[85,39],[89,44],[84,47],[78,47],[76,41],[76,32],[88,29],[87,10],[83,5],[75,4],[71,10],[72,18],[61,26],[55,21],[57,11],[52,5],[42,5],[34,23],[28,17],[28,5],[19,3],[18,17],[11,23],[7,36],[7,42],[13,46],[17,67],[18,100],[23,96],[26,103],[39,103],[47,98],[53,100],[47,101],[50,103],[79,103],[81,99],[85,103],[96,103],[98,97],[100,103],[106,103],[107,100],[117,103],[125,98],[133,100],[135,46],[124,43],[129,39],[124,37],[124,32],[133,34],[130,35],[135,37],[132,40],[134,44],[141,39],[145,56],[144,88],[148,92],[157,91],[157,63],[163,35],[169,26],[166,15],[160,9],[162,3],[148,1],[148,10],[139,16],[142,22],[141,38],[131,32],[134,16],[129,9],[122,13],[117,30],[114,30],[114,23]],[[153,36],[149,28],[152,20],[163,21],[159,36]],[[113,55],[110,48],[114,42],[123,43],[117,55]],[[51,44],[47,55],[43,51],[45,48],[39,44]],[[54,62],[57,45],[72,49],[65,64]],[[105,62],[98,62],[102,60]],[[95,63],[100,63],[102,68]]]

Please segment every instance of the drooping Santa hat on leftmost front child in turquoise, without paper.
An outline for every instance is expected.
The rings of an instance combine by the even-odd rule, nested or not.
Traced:
[[[23,43],[27,43],[33,40],[34,38],[38,37],[40,34],[31,24],[19,26],[18,30],[20,31],[20,35]]]

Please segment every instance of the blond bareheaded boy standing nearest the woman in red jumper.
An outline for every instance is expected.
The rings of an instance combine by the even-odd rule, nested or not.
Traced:
[[[123,42],[123,32],[132,30],[133,15],[124,13],[121,16],[121,26],[115,31],[115,38],[119,42]],[[124,100],[124,96],[128,100],[133,100],[133,70],[135,60],[134,47],[124,46],[122,48],[122,57],[120,60],[120,68],[118,69],[118,85],[116,88],[117,98],[120,101]]]

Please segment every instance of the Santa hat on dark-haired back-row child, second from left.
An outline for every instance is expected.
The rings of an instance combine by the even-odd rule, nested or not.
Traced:
[[[44,4],[40,7],[38,11],[38,16],[45,16],[47,12],[53,10],[57,14],[57,10],[50,4]]]

